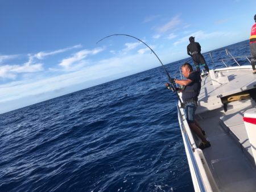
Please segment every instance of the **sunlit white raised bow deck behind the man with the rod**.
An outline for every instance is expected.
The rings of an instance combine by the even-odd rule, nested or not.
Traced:
[[[222,107],[221,97],[255,88],[256,74],[253,74],[250,68],[251,66],[243,66],[242,69],[218,69],[215,74],[202,78],[197,113]],[[214,79],[214,75],[223,77]]]

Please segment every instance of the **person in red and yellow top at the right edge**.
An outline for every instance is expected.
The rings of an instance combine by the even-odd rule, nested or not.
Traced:
[[[251,49],[251,66],[253,67],[253,74],[256,74],[255,62],[256,62],[256,15],[254,15],[255,24],[251,27],[250,36],[250,49]]]

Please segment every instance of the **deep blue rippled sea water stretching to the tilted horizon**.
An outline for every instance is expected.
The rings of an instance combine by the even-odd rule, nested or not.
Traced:
[[[248,41],[227,48],[250,55]],[[1,114],[0,191],[193,191],[166,81],[159,66]]]

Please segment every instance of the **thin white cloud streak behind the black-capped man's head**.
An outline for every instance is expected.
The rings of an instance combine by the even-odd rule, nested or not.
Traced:
[[[182,38],[178,39],[174,43],[174,45],[184,43],[184,42],[188,43],[189,42],[188,38],[190,36],[196,37],[196,39],[212,39],[213,37],[220,37],[220,36],[227,36],[227,35],[228,35],[227,33],[221,32],[221,31],[214,31],[214,32],[210,32],[210,33],[207,33],[207,32],[204,32],[204,31],[197,31],[197,32],[194,32],[190,35],[187,35],[185,37],[182,37]]]

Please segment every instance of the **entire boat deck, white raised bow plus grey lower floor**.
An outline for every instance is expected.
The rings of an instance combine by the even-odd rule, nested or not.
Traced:
[[[202,81],[197,119],[212,144],[203,153],[220,191],[255,191],[256,166],[242,119],[245,112],[256,110],[255,101],[230,102],[224,110],[221,97],[253,89],[256,75],[251,69],[226,70],[222,75],[221,84],[210,76]]]

